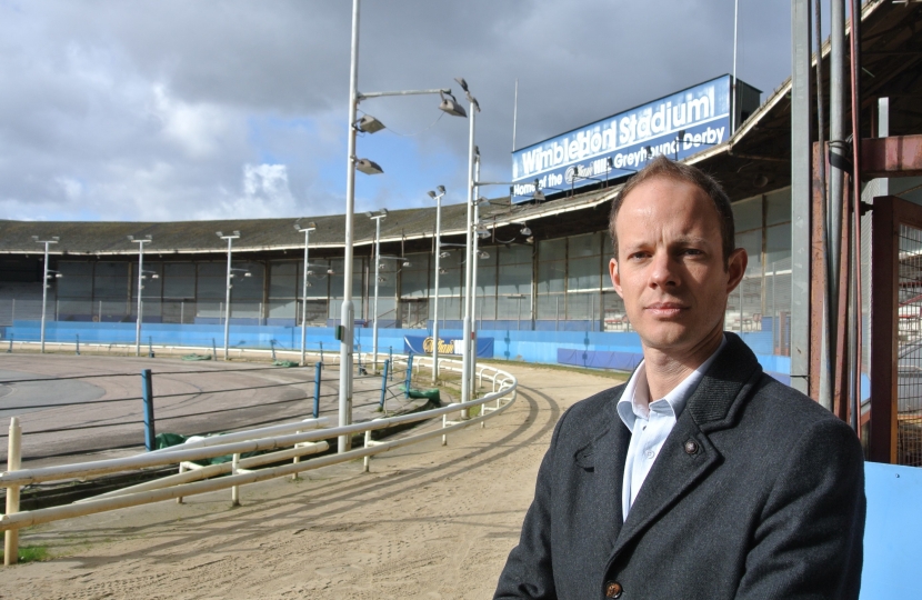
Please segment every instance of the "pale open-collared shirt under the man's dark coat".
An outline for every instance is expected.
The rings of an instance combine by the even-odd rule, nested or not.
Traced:
[[[628,446],[624,480],[621,486],[621,512],[625,520],[647,474],[660,456],[665,439],[685,409],[685,403],[725,343],[726,337],[721,340],[714,353],[671,392],[649,404],[650,388],[647,383],[644,361],[640,362],[634,374],[628,380],[628,387],[618,401],[618,416],[631,430],[631,443]]]

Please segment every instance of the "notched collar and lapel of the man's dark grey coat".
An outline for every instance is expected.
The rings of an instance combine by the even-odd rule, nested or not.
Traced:
[[[733,333],[725,336],[728,343],[689,398],[685,410],[647,476],[618,536],[611,560],[721,461],[721,454],[711,443],[708,432],[722,429],[732,421],[732,409],[741,404],[736,400],[749,396],[752,383],[761,373],[755,354],[749,347]],[[623,424],[622,428],[627,431]],[[628,439],[630,441],[630,433]],[[619,459],[619,507],[625,457],[627,446]],[[620,508],[618,512],[621,513]]]

